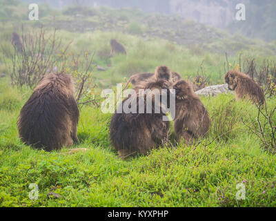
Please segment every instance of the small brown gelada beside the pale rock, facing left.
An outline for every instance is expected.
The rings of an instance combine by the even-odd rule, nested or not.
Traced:
[[[229,90],[235,91],[236,99],[248,98],[255,104],[264,104],[264,91],[248,75],[230,70],[224,77]]]

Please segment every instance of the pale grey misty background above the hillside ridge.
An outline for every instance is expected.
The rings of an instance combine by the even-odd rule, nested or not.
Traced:
[[[184,19],[224,28],[246,37],[265,41],[276,39],[276,1],[274,0],[22,0],[25,3],[47,3],[56,9],[68,6],[136,8],[147,13],[179,15]],[[236,21],[237,3],[246,6],[246,21]]]

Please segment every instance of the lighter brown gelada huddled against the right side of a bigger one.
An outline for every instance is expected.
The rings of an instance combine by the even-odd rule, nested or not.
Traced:
[[[177,141],[184,138],[184,142],[190,144],[208,133],[210,126],[208,111],[188,81],[177,81],[173,89],[175,89],[174,127]]]

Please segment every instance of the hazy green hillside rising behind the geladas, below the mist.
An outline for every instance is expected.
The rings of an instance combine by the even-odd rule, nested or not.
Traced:
[[[95,81],[101,88],[114,86],[135,73],[152,72],[160,63],[167,64],[183,77],[195,77],[203,65],[210,84],[222,83],[228,66],[226,53],[230,66],[235,66],[239,55],[243,60],[254,58],[262,63],[264,59],[273,59],[276,52],[274,43],[230,35],[181,17],[147,14],[140,10],[70,7],[59,11],[41,4],[39,21],[28,21],[17,7],[26,8],[26,5],[8,1],[2,6],[3,12],[10,10],[12,15],[8,19],[7,14],[0,14],[2,50],[12,50],[10,35],[14,30],[21,33],[22,25],[30,30],[43,25],[49,32],[57,28],[64,47],[72,41],[70,52],[95,53],[95,64],[106,68],[104,72],[94,70]],[[112,38],[126,46],[127,57],[108,57]],[[2,64],[0,70],[4,69]]]

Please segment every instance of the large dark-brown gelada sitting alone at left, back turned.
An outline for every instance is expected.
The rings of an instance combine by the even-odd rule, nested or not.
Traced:
[[[34,88],[21,109],[17,125],[24,143],[52,151],[78,142],[78,122],[72,77],[49,74]]]

